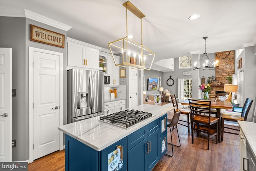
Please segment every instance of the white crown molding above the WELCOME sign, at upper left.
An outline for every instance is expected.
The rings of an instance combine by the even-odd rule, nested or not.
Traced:
[[[18,8],[2,8],[0,7],[0,16],[4,17],[26,17],[31,20],[35,20],[44,24],[47,24],[49,26],[59,28],[64,31],[70,30],[72,28],[71,26],[68,26],[66,24],[63,24],[61,22],[58,22],[56,20],[52,20],[50,18],[47,18],[45,16],[36,14],[34,12],[31,12],[26,9],[18,9]]]

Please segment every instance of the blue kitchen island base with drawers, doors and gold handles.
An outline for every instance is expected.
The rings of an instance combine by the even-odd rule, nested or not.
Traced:
[[[102,151],[66,135],[65,170],[150,171],[167,151],[166,123],[167,114]]]

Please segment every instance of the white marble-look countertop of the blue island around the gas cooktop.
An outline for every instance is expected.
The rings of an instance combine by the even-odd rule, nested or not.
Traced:
[[[135,125],[132,125],[128,129],[110,125],[99,121],[100,116],[92,117],[82,121],[69,123],[67,125],[62,125],[58,129],[65,134],[77,139],[78,141],[92,147],[97,151],[112,145],[113,143],[119,141],[120,139],[130,135],[134,131],[142,128],[148,123],[158,119],[162,115],[172,111],[174,107],[172,103],[166,105],[138,105],[136,107],[130,108],[138,111],[148,111],[152,113],[152,117],[145,119]]]

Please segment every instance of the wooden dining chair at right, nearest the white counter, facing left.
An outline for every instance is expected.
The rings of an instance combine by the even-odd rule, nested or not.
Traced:
[[[223,141],[224,132],[239,135],[239,133],[224,131],[224,128],[240,131],[240,129],[235,129],[235,128],[224,126],[224,121],[233,121],[233,122],[246,121],[247,115],[252,106],[252,102],[253,102],[252,99],[246,98],[246,101],[245,101],[243,109],[242,109],[241,116],[221,113],[221,141]]]

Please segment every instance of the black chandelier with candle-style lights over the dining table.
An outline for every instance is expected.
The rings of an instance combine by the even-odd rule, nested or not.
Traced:
[[[193,70],[215,70],[218,67],[218,60],[212,64],[211,60],[208,58],[206,53],[206,39],[208,37],[203,37],[204,39],[204,55],[200,58],[198,62],[195,62]],[[200,64],[200,61],[202,64]]]

